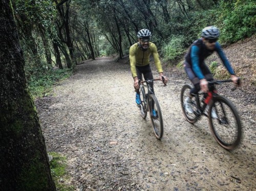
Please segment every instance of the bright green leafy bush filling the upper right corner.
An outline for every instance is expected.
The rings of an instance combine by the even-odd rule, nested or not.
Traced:
[[[222,1],[217,11],[222,42],[233,43],[256,32],[254,0]]]

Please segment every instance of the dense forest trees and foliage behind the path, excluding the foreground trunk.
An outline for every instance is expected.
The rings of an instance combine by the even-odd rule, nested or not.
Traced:
[[[129,54],[147,28],[167,65],[179,65],[206,26],[221,31],[222,46],[256,32],[254,0],[15,0],[13,14],[34,98],[70,76],[77,64]],[[216,66],[215,63],[212,63]],[[252,79],[255,84],[255,79]]]

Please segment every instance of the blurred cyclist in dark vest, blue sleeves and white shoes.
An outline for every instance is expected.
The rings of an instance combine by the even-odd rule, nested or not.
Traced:
[[[190,49],[185,56],[185,71],[189,80],[194,84],[194,88],[190,90],[190,95],[186,98],[184,103],[185,109],[188,113],[193,113],[193,109],[191,108],[191,98],[193,98],[200,89],[203,92],[207,92],[207,81],[213,80],[213,76],[204,60],[215,51],[218,53],[224,66],[228,70],[233,83],[236,85],[238,83],[238,77],[234,74],[234,70],[218,42],[218,38],[220,36],[219,29],[214,26],[206,27],[202,30],[201,36],[202,37],[200,39],[191,44]],[[212,110],[211,116],[213,117],[217,116],[214,112],[215,111]]]

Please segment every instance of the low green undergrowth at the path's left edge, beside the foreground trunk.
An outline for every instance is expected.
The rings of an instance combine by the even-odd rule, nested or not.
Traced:
[[[72,75],[70,69],[45,70],[38,69],[28,79],[30,93],[35,98],[48,96],[55,82],[69,78]]]

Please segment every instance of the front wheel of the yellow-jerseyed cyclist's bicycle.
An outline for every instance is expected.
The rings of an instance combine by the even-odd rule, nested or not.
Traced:
[[[151,118],[151,124],[154,130],[154,134],[157,139],[161,139],[163,136],[163,118],[162,118],[162,112],[160,109],[160,105],[158,103],[158,100],[154,94],[150,94],[150,102],[148,104],[150,109],[150,118]],[[152,109],[156,110],[157,117],[154,117],[152,114]]]

